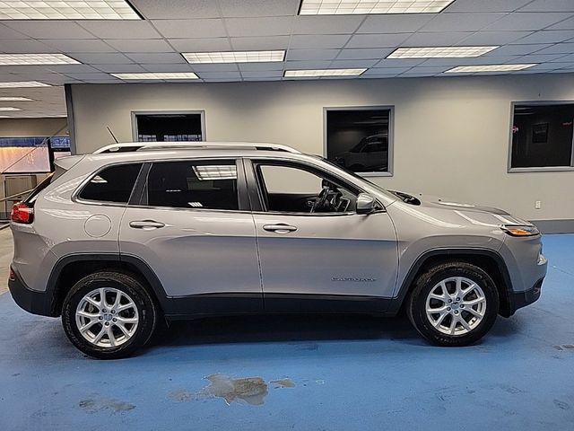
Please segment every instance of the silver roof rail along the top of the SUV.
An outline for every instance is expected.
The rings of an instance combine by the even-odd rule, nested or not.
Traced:
[[[102,146],[93,154],[125,153],[153,149],[198,149],[198,148],[252,148],[267,151],[285,151],[287,153],[300,153],[291,146],[279,144],[264,144],[252,142],[131,142],[125,144],[112,144]]]

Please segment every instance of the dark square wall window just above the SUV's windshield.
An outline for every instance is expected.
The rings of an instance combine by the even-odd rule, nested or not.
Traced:
[[[352,172],[388,172],[391,110],[327,110],[327,159]]]

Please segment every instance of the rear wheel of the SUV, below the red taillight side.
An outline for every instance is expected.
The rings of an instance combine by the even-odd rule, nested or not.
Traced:
[[[100,359],[132,355],[151,338],[157,320],[158,309],[143,285],[115,270],[83,277],[65,296],[62,308],[68,339],[86,355]]]

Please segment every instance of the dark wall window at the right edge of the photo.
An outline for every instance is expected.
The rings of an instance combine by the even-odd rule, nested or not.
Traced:
[[[515,105],[513,168],[570,166],[574,104]]]

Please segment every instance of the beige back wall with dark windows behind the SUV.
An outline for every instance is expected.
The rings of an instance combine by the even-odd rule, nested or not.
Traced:
[[[574,219],[574,171],[508,173],[511,101],[574,100],[574,75],[229,84],[74,84],[79,153],[132,140],[132,110],[204,110],[208,140],[274,142],[323,154],[323,108],[395,106],[388,189]],[[373,179],[371,179],[373,180]],[[542,209],[535,209],[535,200]]]

